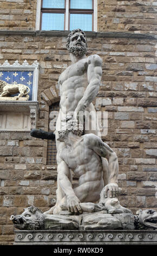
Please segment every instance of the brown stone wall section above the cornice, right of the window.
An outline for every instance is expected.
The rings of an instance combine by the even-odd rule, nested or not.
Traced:
[[[97,31],[132,31],[155,33],[157,2],[98,0]]]

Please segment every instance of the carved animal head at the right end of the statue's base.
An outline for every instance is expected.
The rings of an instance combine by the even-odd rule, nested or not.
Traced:
[[[140,210],[139,222],[149,228],[157,229],[157,212],[152,209]]]

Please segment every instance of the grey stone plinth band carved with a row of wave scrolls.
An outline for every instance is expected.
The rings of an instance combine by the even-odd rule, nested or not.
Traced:
[[[157,245],[157,230],[15,230],[14,245]]]

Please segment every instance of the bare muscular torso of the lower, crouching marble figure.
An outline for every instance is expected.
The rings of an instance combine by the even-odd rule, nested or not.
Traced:
[[[89,149],[82,138],[75,147],[66,146],[61,158],[78,177],[78,184],[100,182],[102,184],[102,160],[93,150]]]

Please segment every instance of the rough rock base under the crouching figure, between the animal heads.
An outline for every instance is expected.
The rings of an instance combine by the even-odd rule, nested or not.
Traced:
[[[134,227],[133,214],[107,214],[107,211],[83,212],[80,215],[67,215],[67,211],[62,211],[62,215],[44,215],[45,230],[132,230]]]

